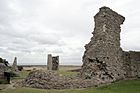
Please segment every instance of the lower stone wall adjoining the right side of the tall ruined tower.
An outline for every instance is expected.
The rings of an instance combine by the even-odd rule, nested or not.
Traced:
[[[140,78],[140,52],[124,52],[126,78]]]

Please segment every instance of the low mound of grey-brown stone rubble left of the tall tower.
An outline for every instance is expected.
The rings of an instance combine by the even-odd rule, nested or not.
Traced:
[[[94,86],[92,80],[83,80],[78,75],[60,76],[53,71],[44,70],[30,72],[27,78],[20,83],[18,86],[43,89],[86,88]]]

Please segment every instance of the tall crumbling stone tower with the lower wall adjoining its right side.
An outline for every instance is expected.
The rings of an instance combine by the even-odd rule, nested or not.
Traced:
[[[81,76],[103,83],[140,77],[140,52],[125,52],[120,47],[120,25],[125,18],[102,7],[94,20],[93,37],[85,46]]]

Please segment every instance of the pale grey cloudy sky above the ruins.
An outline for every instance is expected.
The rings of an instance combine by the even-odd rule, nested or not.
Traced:
[[[46,64],[47,54],[61,64],[81,65],[84,45],[94,28],[93,16],[108,6],[125,16],[124,50],[140,51],[138,0],[0,0],[0,56],[10,63]]]

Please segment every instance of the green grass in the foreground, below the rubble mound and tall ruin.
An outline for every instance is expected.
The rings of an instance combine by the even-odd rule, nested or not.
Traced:
[[[119,81],[102,87],[85,89],[45,90],[34,88],[17,88],[0,91],[0,93],[140,93],[140,80]]]

